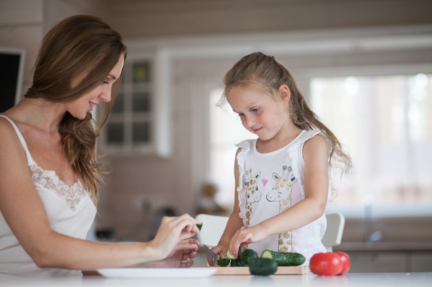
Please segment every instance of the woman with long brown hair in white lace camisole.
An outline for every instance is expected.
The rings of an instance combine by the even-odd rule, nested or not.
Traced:
[[[44,37],[32,86],[0,116],[0,278],[193,264],[199,222],[187,214],[164,217],[150,242],[85,240],[104,173],[95,142],[125,59],[120,34],[97,17],[69,17]]]

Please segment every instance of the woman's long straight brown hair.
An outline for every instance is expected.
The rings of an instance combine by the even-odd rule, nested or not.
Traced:
[[[75,100],[101,85],[121,55],[126,59],[126,46],[104,21],[88,15],[68,17],[43,38],[32,86],[24,97],[63,103]],[[72,87],[72,79],[83,72],[87,76]],[[59,126],[63,153],[95,202],[105,173],[97,162],[96,138],[108,120],[120,83],[121,78],[113,85],[110,103],[98,108],[100,123],[90,112],[84,120],[66,113]]]

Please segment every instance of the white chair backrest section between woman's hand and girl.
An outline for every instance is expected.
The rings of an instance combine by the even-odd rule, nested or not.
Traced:
[[[197,233],[199,246],[202,246],[202,244],[209,247],[216,246],[222,233],[224,233],[228,217],[200,213],[195,218],[202,222],[201,231]]]

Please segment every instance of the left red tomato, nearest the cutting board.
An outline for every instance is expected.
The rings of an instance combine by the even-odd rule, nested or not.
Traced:
[[[337,275],[342,271],[342,260],[333,252],[316,253],[311,257],[309,268],[316,275]]]

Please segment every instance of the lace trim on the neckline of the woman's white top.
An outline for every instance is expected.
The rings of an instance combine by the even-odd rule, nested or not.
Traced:
[[[41,169],[36,162],[29,168],[32,181],[44,189],[53,191],[59,198],[62,198],[70,211],[75,211],[79,206],[79,202],[88,195],[88,191],[84,189],[80,180],[68,186],[59,179],[55,171]]]

